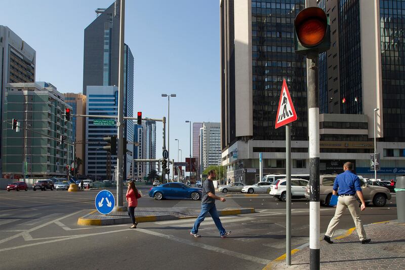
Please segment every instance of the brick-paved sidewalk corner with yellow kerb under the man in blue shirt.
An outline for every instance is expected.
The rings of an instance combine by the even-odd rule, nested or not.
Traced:
[[[360,244],[354,228],[335,237],[333,244],[321,241],[320,269],[405,269],[405,223],[377,222],[365,229],[369,244]],[[309,246],[293,252],[291,266],[283,255],[264,269],[309,269]]]

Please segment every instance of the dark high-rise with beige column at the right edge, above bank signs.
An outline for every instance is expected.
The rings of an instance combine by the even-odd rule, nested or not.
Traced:
[[[321,152],[328,141],[346,141],[346,148],[369,145],[371,149],[345,150],[356,153],[351,158],[357,173],[374,178],[369,164],[375,118],[378,178],[394,178],[405,172],[405,3],[320,0],[318,6],[330,14],[331,22],[331,49],[319,59],[320,111],[332,114],[320,123],[325,131],[320,133]],[[359,118],[362,123],[357,123]]]

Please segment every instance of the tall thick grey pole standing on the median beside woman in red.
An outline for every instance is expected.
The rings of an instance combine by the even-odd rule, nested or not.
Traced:
[[[119,4],[119,58],[118,58],[118,151],[117,151],[117,200],[115,211],[127,211],[124,208],[124,29],[125,29],[125,0]]]

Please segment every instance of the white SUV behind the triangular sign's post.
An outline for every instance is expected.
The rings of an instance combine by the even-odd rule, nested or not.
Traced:
[[[305,190],[308,184],[308,180],[300,178],[291,179],[291,198],[301,199],[305,198]],[[277,198],[281,202],[287,200],[287,179],[278,179],[274,185],[270,186],[269,194]]]

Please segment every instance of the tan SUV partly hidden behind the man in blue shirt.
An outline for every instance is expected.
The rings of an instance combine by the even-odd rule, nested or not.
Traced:
[[[320,175],[319,176],[319,202],[329,205],[332,198],[333,183],[337,175]],[[384,206],[387,200],[391,200],[391,194],[388,188],[383,186],[369,185],[362,179],[361,191],[366,204],[373,203],[374,206]],[[309,184],[306,186],[305,198],[309,199]]]

